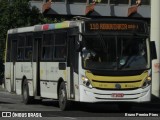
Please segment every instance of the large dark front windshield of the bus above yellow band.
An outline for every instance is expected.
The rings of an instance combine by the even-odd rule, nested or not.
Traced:
[[[150,68],[149,41],[142,36],[84,35],[85,69],[141,70]]]

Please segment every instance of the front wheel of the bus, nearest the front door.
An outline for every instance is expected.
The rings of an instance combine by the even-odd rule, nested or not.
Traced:
[[[65,83],[62,82],[60,84],[58,90],[58,98],[59,98],[59,107],[62,111],[68,110],[70,107],[70,101],[67,100],[67,91]]]

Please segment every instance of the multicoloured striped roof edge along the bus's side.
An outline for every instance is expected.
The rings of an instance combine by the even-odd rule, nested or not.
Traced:
[[[29,27],[14,28],[14,29],[8,30],[8,34],[45,31],[45,30],[75,27],[75,26],[78,26],[78,23],[76,21],[64,21],[61,23],[42,24],[42,25],[34,25]]]

